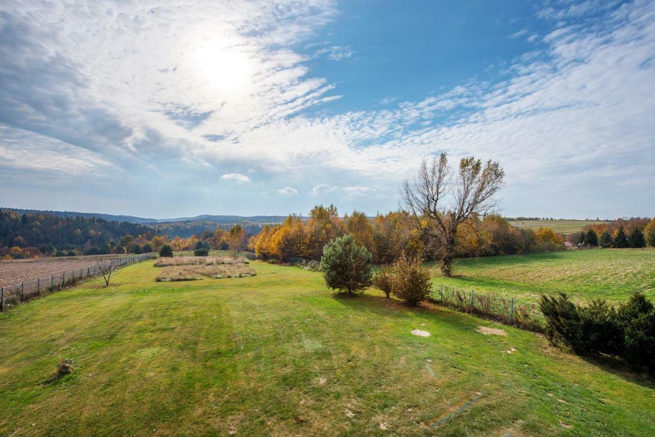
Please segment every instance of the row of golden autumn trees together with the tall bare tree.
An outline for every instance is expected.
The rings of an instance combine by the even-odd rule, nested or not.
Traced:
[[[289,216],[280,225],[265,226],[251,238],[250,248],[263,259],[318,261],[328,241],[352,235],[374,263],[392,263],[404,252],[440,259],[447,275],[454,257],[563,250],[563,238],[550,228],[519,229],[491,214],[503,175],[497,162],[472,158],[463,159],[455,174],[443,154],[422,162],[417,178],[405,181],[403,210],[372,219],[354,211],[340,218],[335,206],[319,205],[307,221]]]

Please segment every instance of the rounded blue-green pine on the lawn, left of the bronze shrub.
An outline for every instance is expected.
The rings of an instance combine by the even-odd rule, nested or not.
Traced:
[[[326,284],[339,292],[358,292],[371,285],[371,252],[352,235],[327,242],[320,263]]]

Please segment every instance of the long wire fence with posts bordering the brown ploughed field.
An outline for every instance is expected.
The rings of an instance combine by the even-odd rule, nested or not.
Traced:
[[[21,302],[27,302],[37,297],[52,293],[56,290],[62,290],[66,286],[77,284],[83,279],[93,278],[100,276],[100,269],[98,263],[107,265],[108,263],[115,263],[116,268],[130,265],[133,263],[140,263],[151,257],[151,254],[140,254],[135,256],[102,259],[96,261],[94,265],[88,265],[81,269],[67,270],[55,275],[43,276],[41,278],[20,282],[0,288],[0,311],[6,311],[15,307]]]

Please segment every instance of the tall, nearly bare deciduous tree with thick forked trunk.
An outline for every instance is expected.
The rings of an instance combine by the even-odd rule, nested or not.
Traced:
[[[483,165],[474,157],[463,158],[453,174],[446,153],[441,153],[432,162],[423,159],[417,177],[403,183],[402,206],[441,257],[444,276],[451,276],[458,226],[495,208],[495,194],[502,188],[504,176],[498,162]]]

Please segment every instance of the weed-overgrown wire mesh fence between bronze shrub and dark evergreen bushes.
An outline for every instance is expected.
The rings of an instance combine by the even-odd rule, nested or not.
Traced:
[[[543,332],[543,315],[534,303],[519,303],[514,297],[476,292],[440,284],[433,288],[432,302],[462,311],[491,318],[498,322],[525,330]]]

